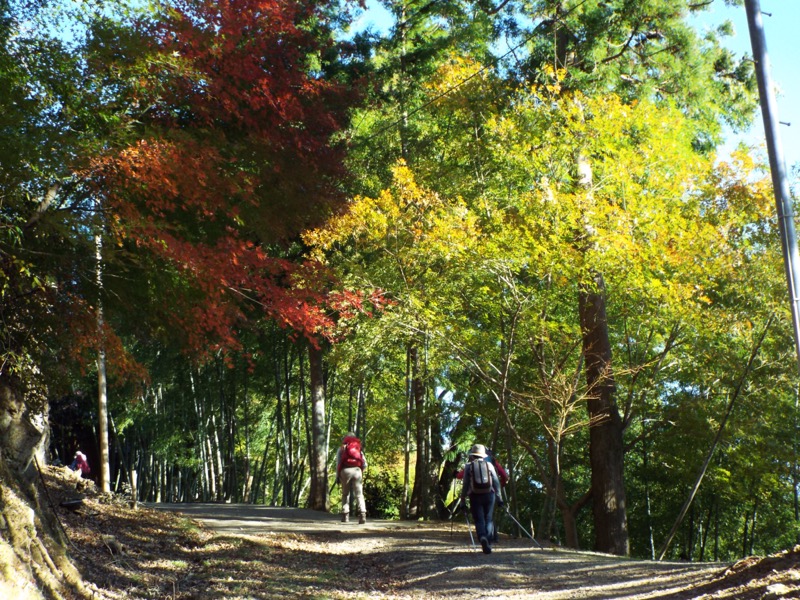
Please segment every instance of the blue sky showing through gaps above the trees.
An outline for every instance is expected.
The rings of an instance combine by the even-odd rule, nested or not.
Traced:
[[[781,125],[778,135],[783,147],[787,173],[793,165],[800,168],[800,0],[761,0],[764,36],[770,60],[770,75],[776,88],[778,120],[791,125]],[[723,0],[714,0],[711,6],[695,19],[695,26],[715,28],[730,21],[734,35],[724,44],[737,56],[752,55],[750,34],[747,28],[747,13],[743,6],[725,6]],[[377,0],[368,0],[367,12],[355,25],[363,29],[370,24],[376,29],[385,29],[392,22],[391,16]],[[761,112],[749,131],[728,134],[728,143],[720,150],[727,154],[740,141],[752,146],[764,146],[764,127]],[[766,150],[764,150],[766,152]]]

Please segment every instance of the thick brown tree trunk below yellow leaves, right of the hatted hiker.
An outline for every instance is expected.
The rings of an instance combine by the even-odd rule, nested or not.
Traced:
[[[611,343],[602,275],[579,293],[586,383],[589,388],[589,461],[592,467],[592,509],[595,550],[620,556],[630,553],[625,502],[622,418],[614,399]]]

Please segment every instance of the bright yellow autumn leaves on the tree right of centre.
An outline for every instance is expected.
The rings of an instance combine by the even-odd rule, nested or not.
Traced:
[[[520,90],[482,122],[490,177],[470,188],[478,193],[436,193],[419,179],[434,167],[420,161],[415,173],[399,162],[386,189],[353,198],[346,213],[304,236],[312,254],[333,259],[357,284],[390,290],[392,318],[415,331],[443,315],[468,331],[469,318],[519,310],[528,311],[529,334],[568,336],[574,307],[557,303],[574,300],[593,272],[626,315],[678,323],[723,310],[720,290],[741,280],[750,247],[772,228],[758,165],[743,155],[715,166],[699,155],[692,122],[668,102],[566,93],[562,77],[548,71],[544,85]],[[453,59],[430,94],[459,85],[448,110],[470,108],[488,79],[480,65]],[[442,148],[469,152],[453,146]],[[489,316],[459,314],[454,298]],[[550,327],[555,311],[563,321]],[[469,334],[483,335],[488,329]]]

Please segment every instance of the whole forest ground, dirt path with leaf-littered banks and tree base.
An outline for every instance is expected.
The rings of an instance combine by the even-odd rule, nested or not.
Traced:
[[[4,550],[4,559],[13,554],[13,563],[4,560],[4,598],[742,600],[800,594],[800,547],[733,565],[648,566],[538,549],[530,540],[504,536],[487,557],[470,548],[463,526],[447,522],[337,531],[320,521],[319,530],[306,522],[294,532],[287,523],[267,532],[220,534],[180,514],[133,508],[129,499],[99,493],[64,468],[45,468],[36,487],[48,504],[42,515],[49,547]],[[29,509],[9,502],[14,492],[7,487],[2,492],[2,533],[13,540],[20,526],[15,519]]]

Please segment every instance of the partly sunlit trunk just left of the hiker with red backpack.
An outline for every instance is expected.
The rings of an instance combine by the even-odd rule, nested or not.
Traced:
[[[325,453],[325,379],[322,349],[308,345],[308,371],[311,383],[311,489],[309,508],[326,510],[328,502],[328,469]]]

